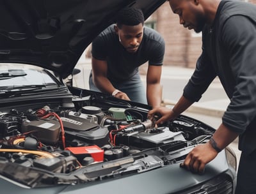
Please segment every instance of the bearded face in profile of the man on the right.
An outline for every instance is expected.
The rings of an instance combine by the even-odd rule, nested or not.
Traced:
[[[197,0],[169,0],[173,13],[180,17],[180,24],[200,33],[205,25],[204,10]]]

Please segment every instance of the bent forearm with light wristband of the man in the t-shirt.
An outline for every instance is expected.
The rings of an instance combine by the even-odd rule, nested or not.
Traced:
[[[92,79],[93,84],[102,91],[102,93],[112,94],[115,87],[111,84],[107,77],[108,64],[106,61],[101,61],[92,57]],[[116,98],[130,100],[127,94],[122,91],[115,94]]]

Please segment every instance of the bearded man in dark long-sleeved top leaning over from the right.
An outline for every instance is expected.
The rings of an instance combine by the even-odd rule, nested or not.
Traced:
[[[205,165],[239,136],[241,159],[236,194],[256,193],[256,5],[229,0],[169,0],[180,24],[202,31],[202,54],[184,93],[172,110],[148,112],[157,124],[177,117],[200,100],[216,76],[230,104],[220,127],[206,144],[196,146],[181,167],[204,172]]]

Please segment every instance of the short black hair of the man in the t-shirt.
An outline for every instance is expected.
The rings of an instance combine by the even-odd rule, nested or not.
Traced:
[[[144,15],[138,8],[127,7],[118,11],[116,15],[116,26],[119,28],[122,28],[122,25],[136,26],[140,23],[144,25]]]

